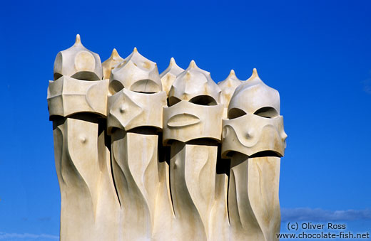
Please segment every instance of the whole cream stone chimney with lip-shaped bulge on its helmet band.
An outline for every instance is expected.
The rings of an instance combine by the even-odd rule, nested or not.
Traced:
[[[163,109],[163,142],[171,145],[171,194],[177,230],[190,240],[225,240],[217,220],[216,162],[221,136],[220,88],[192,60],[174,80]],[[224,199],[223,199],[224,200]],[[222,201],[223,201],[222,200]],[[223,215],[222,215],[223,216]],[[224,223],[222,229],[217,230]]]

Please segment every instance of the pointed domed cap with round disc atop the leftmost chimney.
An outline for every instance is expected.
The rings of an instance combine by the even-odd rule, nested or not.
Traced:
[[[61,76],[78,80],[101,80],[103,77],[101,58],[81,44],[80,36],[76,43],[59,52],[54,61],[54,80]]]

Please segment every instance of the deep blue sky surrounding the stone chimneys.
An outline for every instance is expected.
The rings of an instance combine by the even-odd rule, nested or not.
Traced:
[[[245,80],[258,68],[280,92],[288,133],[283,232],[292,220],[371,231],[370,10],[370,1],[2,3],[0,240],[59,235],[46,88],[76,33],[102,61],[136,46],[160,72],[171,57],[182,68],[194,59],[215,82],[230,69]],[[340,219],[335,210],[345,211]]]

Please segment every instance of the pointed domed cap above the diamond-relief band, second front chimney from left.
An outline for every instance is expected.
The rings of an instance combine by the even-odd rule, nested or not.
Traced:
[[[156,63],[144,58],[136,48],[123,62],[114,66],[109,82],[111,95],[123,88],[143,93],[157,93],[162,90]]]

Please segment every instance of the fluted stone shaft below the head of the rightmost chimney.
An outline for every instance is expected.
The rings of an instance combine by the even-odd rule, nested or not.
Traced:
[[[278,240],[280,158],[232,157],[229,183],[230,240]]]

